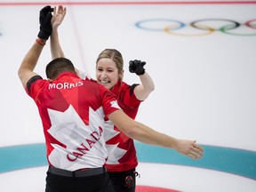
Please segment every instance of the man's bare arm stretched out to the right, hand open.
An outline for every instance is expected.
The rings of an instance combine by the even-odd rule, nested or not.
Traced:
[[[108,116],[113,124],[116,124],[124,134],[133,140],[160,146],[173,148],[180,154],[189,156],[192,159],[200,159],[203,156],[204,148],[196,144],[196,140],[178,140],[161,132],[156,132],[145,124],[134,121],[126,116],[122,110],[116,110]]]

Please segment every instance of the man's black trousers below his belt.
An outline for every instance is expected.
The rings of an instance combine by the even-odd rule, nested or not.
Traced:
[[[113,192],[108,172],[84,177],[66,177],[47,172],[45,192]]]

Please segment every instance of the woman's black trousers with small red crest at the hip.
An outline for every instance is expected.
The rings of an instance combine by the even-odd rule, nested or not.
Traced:
[[[136,176],[135,169],[124,172],[109,172],[110,180],[115,192],[135,192]]]

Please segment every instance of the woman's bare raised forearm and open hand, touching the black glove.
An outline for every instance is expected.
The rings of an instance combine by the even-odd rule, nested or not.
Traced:
[[[67,12],[66,7],[63,8],[62,5],[59,5],[58,8],[54,7],[53,16],[52,16],[52,35],[50,38],[52,60],[59,57],[65,57],[64,52],[62,51],[62,48],[60,46],[58,28],[60,27],[60,24],[64,20],[66,12]]]

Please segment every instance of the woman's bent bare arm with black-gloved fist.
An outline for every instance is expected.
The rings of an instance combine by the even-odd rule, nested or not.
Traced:
[[[129,71],[140,77],[141,84],[134,89],[134,94],[138,100],[146,100],[150,92],[153,92],[155,89],[151,76],[145,71],[145,65],[146,62],[140,60],[130,60],[129,62]]]

